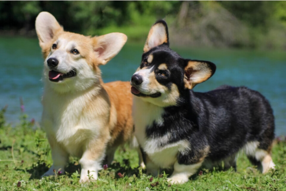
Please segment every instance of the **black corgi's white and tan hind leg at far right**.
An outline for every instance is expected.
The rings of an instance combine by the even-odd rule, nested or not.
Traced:
[[[270,149],[259,148],[259,142],[249,142],[245,145],[245,154],[253,165],[257,165],[262,173],[267,173],[269,169],[275,169],[272,161]]]

